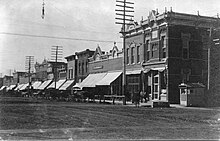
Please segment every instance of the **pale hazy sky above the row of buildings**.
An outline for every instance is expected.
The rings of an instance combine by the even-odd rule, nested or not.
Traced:
[[[129,0],[134,20],[147,19],[151,10],[216,16],[219,0]],[[25,71],[26,56],[34,62],[51,59],[52,46],[62,46],[64,57],[99,45],[109,51],[122,48],[120,25],[115,22],[116,0],[0,0],[0,77]],[[31,36],[29,36],[31,35]],[[51,38],[52,37],[52,38]],[[59,37],[60,39],[54,38]]]

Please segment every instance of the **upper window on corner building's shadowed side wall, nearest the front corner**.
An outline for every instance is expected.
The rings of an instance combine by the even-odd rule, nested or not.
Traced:
[[[182,58],[189,59],[189,41],[190,34],[181,34],[182,39]]]

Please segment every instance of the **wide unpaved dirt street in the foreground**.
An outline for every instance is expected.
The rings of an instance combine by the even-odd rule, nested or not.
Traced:
[[[0,140],[219,139],[219,109],[0,98]]]

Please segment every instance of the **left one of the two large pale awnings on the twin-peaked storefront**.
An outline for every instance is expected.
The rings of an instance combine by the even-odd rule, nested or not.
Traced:
[[[95,87],[96,83],[101,81],[107,73],[89,74],[80,84],[83,87]]]

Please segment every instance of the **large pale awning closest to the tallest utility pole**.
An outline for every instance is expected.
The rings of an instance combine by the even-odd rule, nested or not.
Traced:
[[[109,72],[105,75],[105,77],[96,83],[96,85],[110,85],[114,80],[116,80],[122,72]]]

